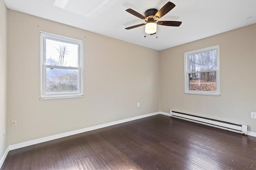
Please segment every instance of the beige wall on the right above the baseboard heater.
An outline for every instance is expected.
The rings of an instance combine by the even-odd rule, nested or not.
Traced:
[[[160,51],[160,111],[234,121],[256,132],[256,24]],[[184,94],[184,53],[220,45],[220,94]]]

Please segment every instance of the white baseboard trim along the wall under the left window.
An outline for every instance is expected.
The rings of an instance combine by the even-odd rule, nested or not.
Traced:
[[[31,141],[17,143],[17,144],[9,145],[9,150],[14,150],[14,149],[22,148],[22,147],[27,147],[27,146],[30,146],[30,145],[35,145],[35,144],[38,144],[38,143],[51,141],[51,140],[54,140],[54,139],[59,139],[59,138],[67,137],[67,136],[70,136],[70,135],[76,135],[78,133],[92,131],[92,130],[95,130],[95,129],[100,129],[100,128],[103,128],[103,127],[108,127],[108,126],[116,125],[116,124],[119,124],[119,123],[124,123],[124,122],[132,121],[132,120],[136,120],[136,119],[141,119],[141,118],[144,118],[144,117],[149,117],[149,116],[158,115],[158,114],[159,114],[159,112],[149,113],[149,114],[146,114],[146,115],[131,117],[131,118],[128,118],[128,119],[122,119],[122,120],[119,120],[119,121],[113,121],[113,122],[110,122],[110,123],[105,123],[105,124],[102,124],[102,125],[86,127],[84,129],[78,129],[78,130],[75,130],[75,131],[60,133],[60,134],[57,134],[57,135],[52,135],[52,136],[48,136],[48,137],[42,137],[42,138],[39,138],[39,139],[34,139],[34,140],[31,140]]]

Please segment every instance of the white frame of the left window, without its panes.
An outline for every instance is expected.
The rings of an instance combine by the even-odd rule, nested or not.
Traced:
[[[56,65],[47,64],[46,63],[46,39],[78,45],[78,67],[56,66]],[[83,96],[83,41],[68,38],[68,37],[63,37],[60,35],[40,32],[40,58],[41,58],[41,61],[40,61],[41,98],[40,99],[73,98],[73,97]],[[78,70],[78,92],[46,94],[46,68],[62,68],[62,69]]]

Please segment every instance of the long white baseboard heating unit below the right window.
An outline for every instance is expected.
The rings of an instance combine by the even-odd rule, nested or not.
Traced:
[[[211,119],[208,117],[192,115],[189,113],[181,113],[179,111],[173,111],[173,110],[170,110],[170,115],[171,115],[171,117],[176,117],[178,119],[184,119],[187,121],[192,121],[192,122],[200,123],[203,125],[217,127],[220,129],[225,129],[228,131],[233,131],[233,132],[242,133],[244,135],[247,135],[247,125],[231,123],[231,122],[217,120],[217,119]]]

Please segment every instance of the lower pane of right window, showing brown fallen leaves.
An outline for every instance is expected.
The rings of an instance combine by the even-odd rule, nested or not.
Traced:
[[[189,73],[189,90],[217,91],[216,71]]]

